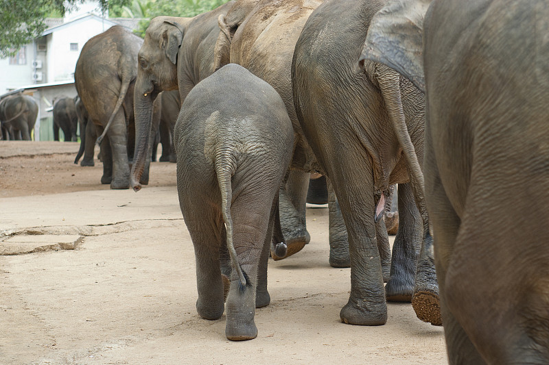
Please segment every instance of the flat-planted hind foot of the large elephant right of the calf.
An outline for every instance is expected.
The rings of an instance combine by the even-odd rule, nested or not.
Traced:
[[[387,304],[385,299],[379,303],[349,299],[339,315],[341,321],[347,325],[380,326],[387,322]]]

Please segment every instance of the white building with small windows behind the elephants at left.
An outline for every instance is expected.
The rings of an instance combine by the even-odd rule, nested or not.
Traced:
[[[56,96],[76,95],[74,69],[84,44],[113,25],[132,30],[138,23],[139,19],[102,17],[96,1],[80,5],[63,19],[47,19],[49,27],[41,36],[14,57],[0,59],[0,97],[19,89],[32,95],[40,105],[34,139],[53,139],[51,102]]]

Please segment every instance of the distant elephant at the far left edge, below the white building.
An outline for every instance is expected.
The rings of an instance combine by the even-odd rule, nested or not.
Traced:
[[[30,140],[38,116],[38,103],[29,95],[10,95],[0,100],[0,123],[4,140]]]

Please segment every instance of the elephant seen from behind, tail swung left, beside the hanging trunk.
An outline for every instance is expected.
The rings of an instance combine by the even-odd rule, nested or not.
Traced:
[[[91,122],[103,133],[106,130],[100,141],[101,182],[110,184],[111,189],[130,187],[128,154],[133,155],[135,140],[133,88],[137,52],[142,43],[141,38],[124,27],[114,26],[88,40],[76,63],[74,79],[78,95]],[[150,154],[145,164],[141,184],[148,184]]]

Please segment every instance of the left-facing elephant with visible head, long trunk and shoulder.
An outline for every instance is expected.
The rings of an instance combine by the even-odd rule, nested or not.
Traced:
[[[135,83],[136,148],[131,186],[141,189],[141,176],[150,156],[154,99],[163,90],[179,90],[181,102],[202,79],[213,73],[213,47],[219,33],[218,16],[233,5],[193,18],[158,16],[150,22],[139,50]],[[156,131],[156,129],[153,129]]]

